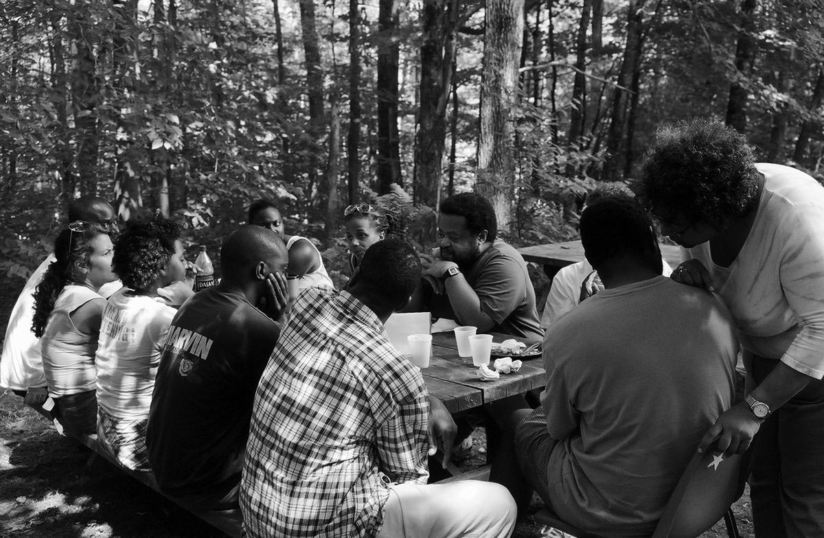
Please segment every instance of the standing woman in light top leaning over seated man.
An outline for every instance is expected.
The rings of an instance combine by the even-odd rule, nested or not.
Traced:
[[[657,138],[639,195],[691,254],[672,278],[727,303],[747,366],[745,400],[699,449],[752,444],[756,536],[824,536],[824,189],[756,163],[747,139],[719,123],[691,120]]]

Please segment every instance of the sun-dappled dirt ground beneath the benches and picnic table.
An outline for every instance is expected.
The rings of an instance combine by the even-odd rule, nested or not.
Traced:
[[[477,431],[475,456],[485,456]],[[540,508],[536,499],[533,509]],[[749,496],[735,505],[742,536],[750,536]],[[122,474],[69,437],[11,392],[0,396],[0,536],[43,538],[166,538],[222,536],[175,505]],[[514,538],[541,536],[534,522],[517,526]],[[723,522],[702,538],[726,536]]]

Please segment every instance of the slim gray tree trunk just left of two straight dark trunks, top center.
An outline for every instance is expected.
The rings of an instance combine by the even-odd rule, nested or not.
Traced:
[[[318,48],[318,36],[315,27],[315,3],[313,0],[300,0],[301,29],[303,33],[303,52],[307,66],[307,97],[309,101],[309,142],[308,175],[309,184],[317,184],[318,154],[323,135],[323,71],[321,70],[321,50]]]

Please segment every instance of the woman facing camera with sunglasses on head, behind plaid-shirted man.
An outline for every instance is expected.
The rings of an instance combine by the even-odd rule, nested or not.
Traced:
[[[392,208],[370,204],[352,204],[344,209],[346,242],[349,243],[349,269],[352,273],[360,265],[366,250],[388,236],[403,236],[403,229]]]

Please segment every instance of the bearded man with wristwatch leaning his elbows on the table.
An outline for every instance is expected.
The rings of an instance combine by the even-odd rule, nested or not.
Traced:
[[[474,325],[479,333],[540,340],[543,331],[527,262],[497,236],[488,199],[463,193],[444,200],[438,218],[440,255],[421,256],[424,278],[433,290],[424,289],[423,306],[433,316]]]

